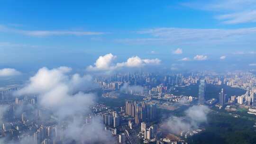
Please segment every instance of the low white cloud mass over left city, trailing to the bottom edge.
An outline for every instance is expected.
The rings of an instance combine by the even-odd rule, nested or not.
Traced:
[[[94,104],[96,96],[83,91],[96,87],[91,76],[80,76],[77,73],[69,75],[71,71],[69,67],[43,67],[15,95],[37,95],[39,106],[51,111],[58,117],[59,122],[66,117],[73,117],[73,121],[68,121],[68,128],[63,133],[67,140],[75,140],[77,143],[113,144],[113,137],[103,130],[100,117],[93,118],[90,124],[84,124],[84,116],[91,113],[90,106]],[[27,141],[29,140],[21,140],[22,144]]]

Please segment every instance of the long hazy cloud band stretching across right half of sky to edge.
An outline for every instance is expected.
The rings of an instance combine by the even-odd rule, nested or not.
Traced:
[[[146,36],[146,38],[145,38]],[[252,42],[256,36],[256,27],[237,29],[202,29],[160,27],[137,31],[135,38],[117,39],[117,42],[128,44],[223,44]],[[253,43],[253,42],[252,42]]]

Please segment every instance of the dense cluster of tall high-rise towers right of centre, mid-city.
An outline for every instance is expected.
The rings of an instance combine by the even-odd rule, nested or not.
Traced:
[[[126,101],[125,113],[135,118],[135,123],[152,121],[156,118],[156,106],[145,102]]]

